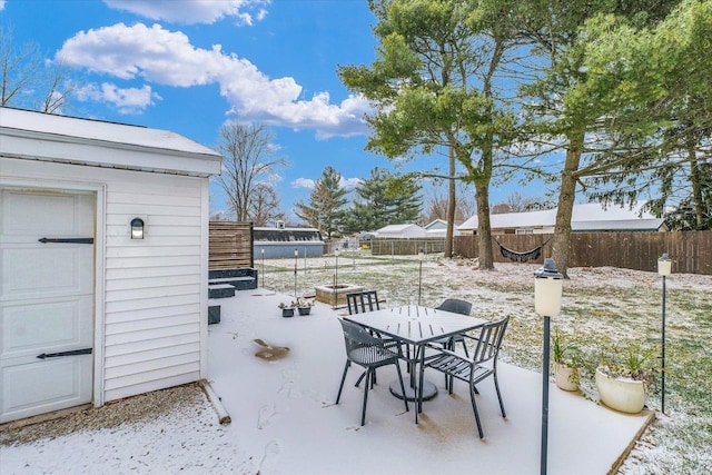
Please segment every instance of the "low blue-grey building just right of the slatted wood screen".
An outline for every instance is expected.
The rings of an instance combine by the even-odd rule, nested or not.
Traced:
[[[254,228],[255,258],[319,257],[324,255],[324,239],[316,228]]]

